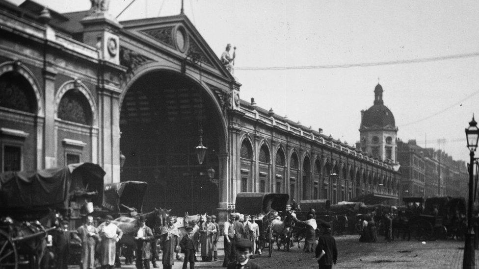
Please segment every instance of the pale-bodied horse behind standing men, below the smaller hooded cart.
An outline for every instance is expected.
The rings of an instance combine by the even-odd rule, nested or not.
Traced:
[[[168,214],[170,213],[170,210],[166,209],[157,209],[141,214],[141,216],[145,216],[146,222],[150,223],[151,226],[150,228],[157,229],[157,227],[161,227],[164,224],[164,221],[166,220],[166,217],[168,217]],[[139,217],[139,216],[138,216]],[[121,239],[116,243],[116,257],[115,257],[115,266],[120,267],[120,256],[122,253],[122,246],[124,246],[124,254],[126,256],[126,263],[132,263],[133,262],[133,249],[135,246],[135,241],[134,237],[136,236],[136,232],[138,231],[139,228],[139,220],[138,218],[130,218],[130,217],[119,217],[116,218],[115,220],[111,221],[112,223],[116,224],[118,228],[123,232],[123,236]],[[100,224],[105,225],[104,223]],[[100,227],[99,226],[99,227]],[[152,253],[154,255],[154,253]]]

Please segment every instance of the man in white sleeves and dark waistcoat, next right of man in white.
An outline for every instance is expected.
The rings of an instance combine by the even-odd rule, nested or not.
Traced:
[[[138,219],[139,228],[136,231],[135,243],[136,243],[136,268],[137,269],[150,269],[151,258],[151,246],[150,243],[153,240],[153,231],[150,227],[146,226],[145,216],[141,215]]]

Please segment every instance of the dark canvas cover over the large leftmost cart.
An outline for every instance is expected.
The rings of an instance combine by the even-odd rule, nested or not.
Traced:
[[[0,174],[0,210],[45,207],[67,208],[72,196],[103,194],[105,171],[96,164],[80,163],[40,171]],[[94,204],[100,201],[93,201]]]

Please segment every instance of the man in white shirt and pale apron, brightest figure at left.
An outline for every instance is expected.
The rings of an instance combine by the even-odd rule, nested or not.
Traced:
[[[113,217],[110,215],[106,216],[105,223],[102,223],[98,229],[100,231],[100,237],[102,239],[101,243],[101,264],[104,269],[111,269],[115,264],[116,256],[116,243],[120,241],[123,236],[122,230],[116,226],[115,223],[111,222]]]

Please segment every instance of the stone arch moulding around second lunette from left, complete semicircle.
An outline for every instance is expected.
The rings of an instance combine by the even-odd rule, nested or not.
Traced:
[[[54,114],[55,114],[55,119],[58,118],[58,105],[60,104],[61,98],[65,95],[66,92],[69,90],[76,89],[80,91],[81,94],[88,100],[88,104],[90,105],[91,109],[91,115],[92,115],[92,126],[98,127],[98,115],[97,115],[97,105],[95,102],[95,98],[91,94],[91,91],[86,87],[83,82],[81,82],[79,79],[73,79],[66,81],[63,83],[60,88],[58,88],[58,91],[55,95],[55,106],[54,106]]]

